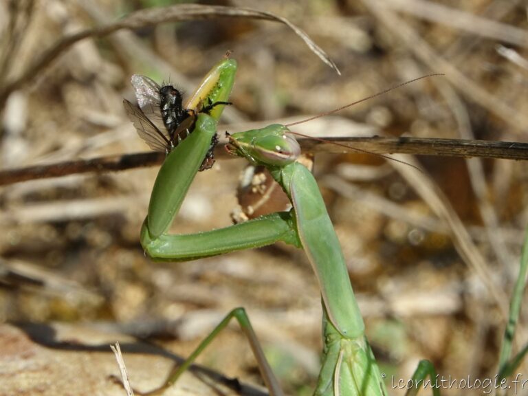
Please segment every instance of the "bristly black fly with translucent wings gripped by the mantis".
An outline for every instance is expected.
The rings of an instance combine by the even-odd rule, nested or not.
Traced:
[[[172,85],[161,87],[151,78],[140,74],[134,74],[131,82],[139,107],[126,99],[123,105],[137,134],[154,151],[170,153],[194,129],[196,111],[184,109],[183,95]],[[217,104],[228,103],[209,103],[200,111],[208,113]],[[213,150],[217,142],[218,138],[214,135],[200,170],[209,169],[214,164]]]

